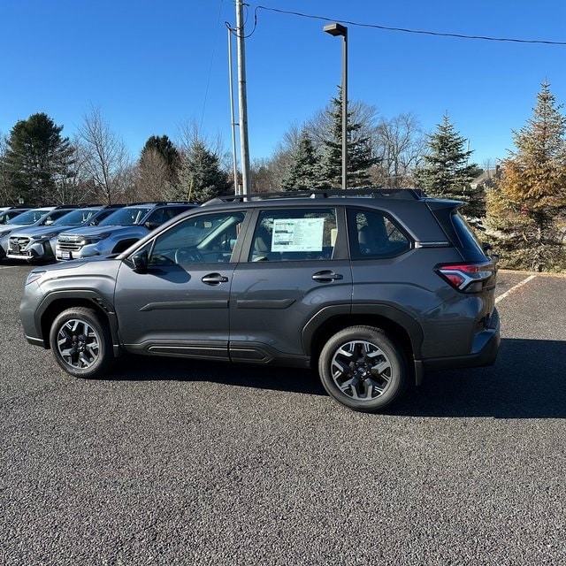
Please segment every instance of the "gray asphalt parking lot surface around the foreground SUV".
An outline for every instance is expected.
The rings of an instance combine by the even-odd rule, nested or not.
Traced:
[[[566,563],[566,277],[500,272],[491,368],[384,415],[309,371],[122,358],[80,380],[27,345],[0,264],[0,563]]]

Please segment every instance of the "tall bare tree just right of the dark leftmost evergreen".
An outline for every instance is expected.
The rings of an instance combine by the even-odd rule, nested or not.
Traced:
[[[85,172],[103,203],[125,201],[131,191],[132,160],[126,144],[93,108],[78,130]]]

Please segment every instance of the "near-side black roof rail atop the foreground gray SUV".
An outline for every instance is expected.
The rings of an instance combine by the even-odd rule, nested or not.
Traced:
[[[419,200],[425,198],[420,188],[316,188],[311,191],[282,191],[277,193],[252,193],[250,195],[221,195],[204,204],[241,203],[243,201],[261,201],[272,198],[331,198],[348,196],[367,196],[371,198],[398,198]]]

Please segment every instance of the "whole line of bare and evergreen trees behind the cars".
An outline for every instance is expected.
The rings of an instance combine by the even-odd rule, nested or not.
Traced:
[[[431,134],[412,114],[378,117],[348,101],[348,187],[417,187],[463,201],[464,215],[501,265],[566,269],[566,117],[545,81],[516,149],[493,170],[471,160],[448,115]],[[253,192],[341,187],[341,91],[302,126],[291,126],[269,159],[252,164]],[[100,111],[73,140],[45,113],[20,120],[0,140],[0,202],[35,204],[191,201],[237,192],[239,175],[221,141],[194,125],[180,140],[152,135],[132,160]]]

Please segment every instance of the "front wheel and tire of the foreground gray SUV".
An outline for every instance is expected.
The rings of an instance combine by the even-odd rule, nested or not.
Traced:
[[[50,330],[57,363],[76,378],[96,378],[114,360],[110,329],[95,310],[74,307],[61,312]]]

